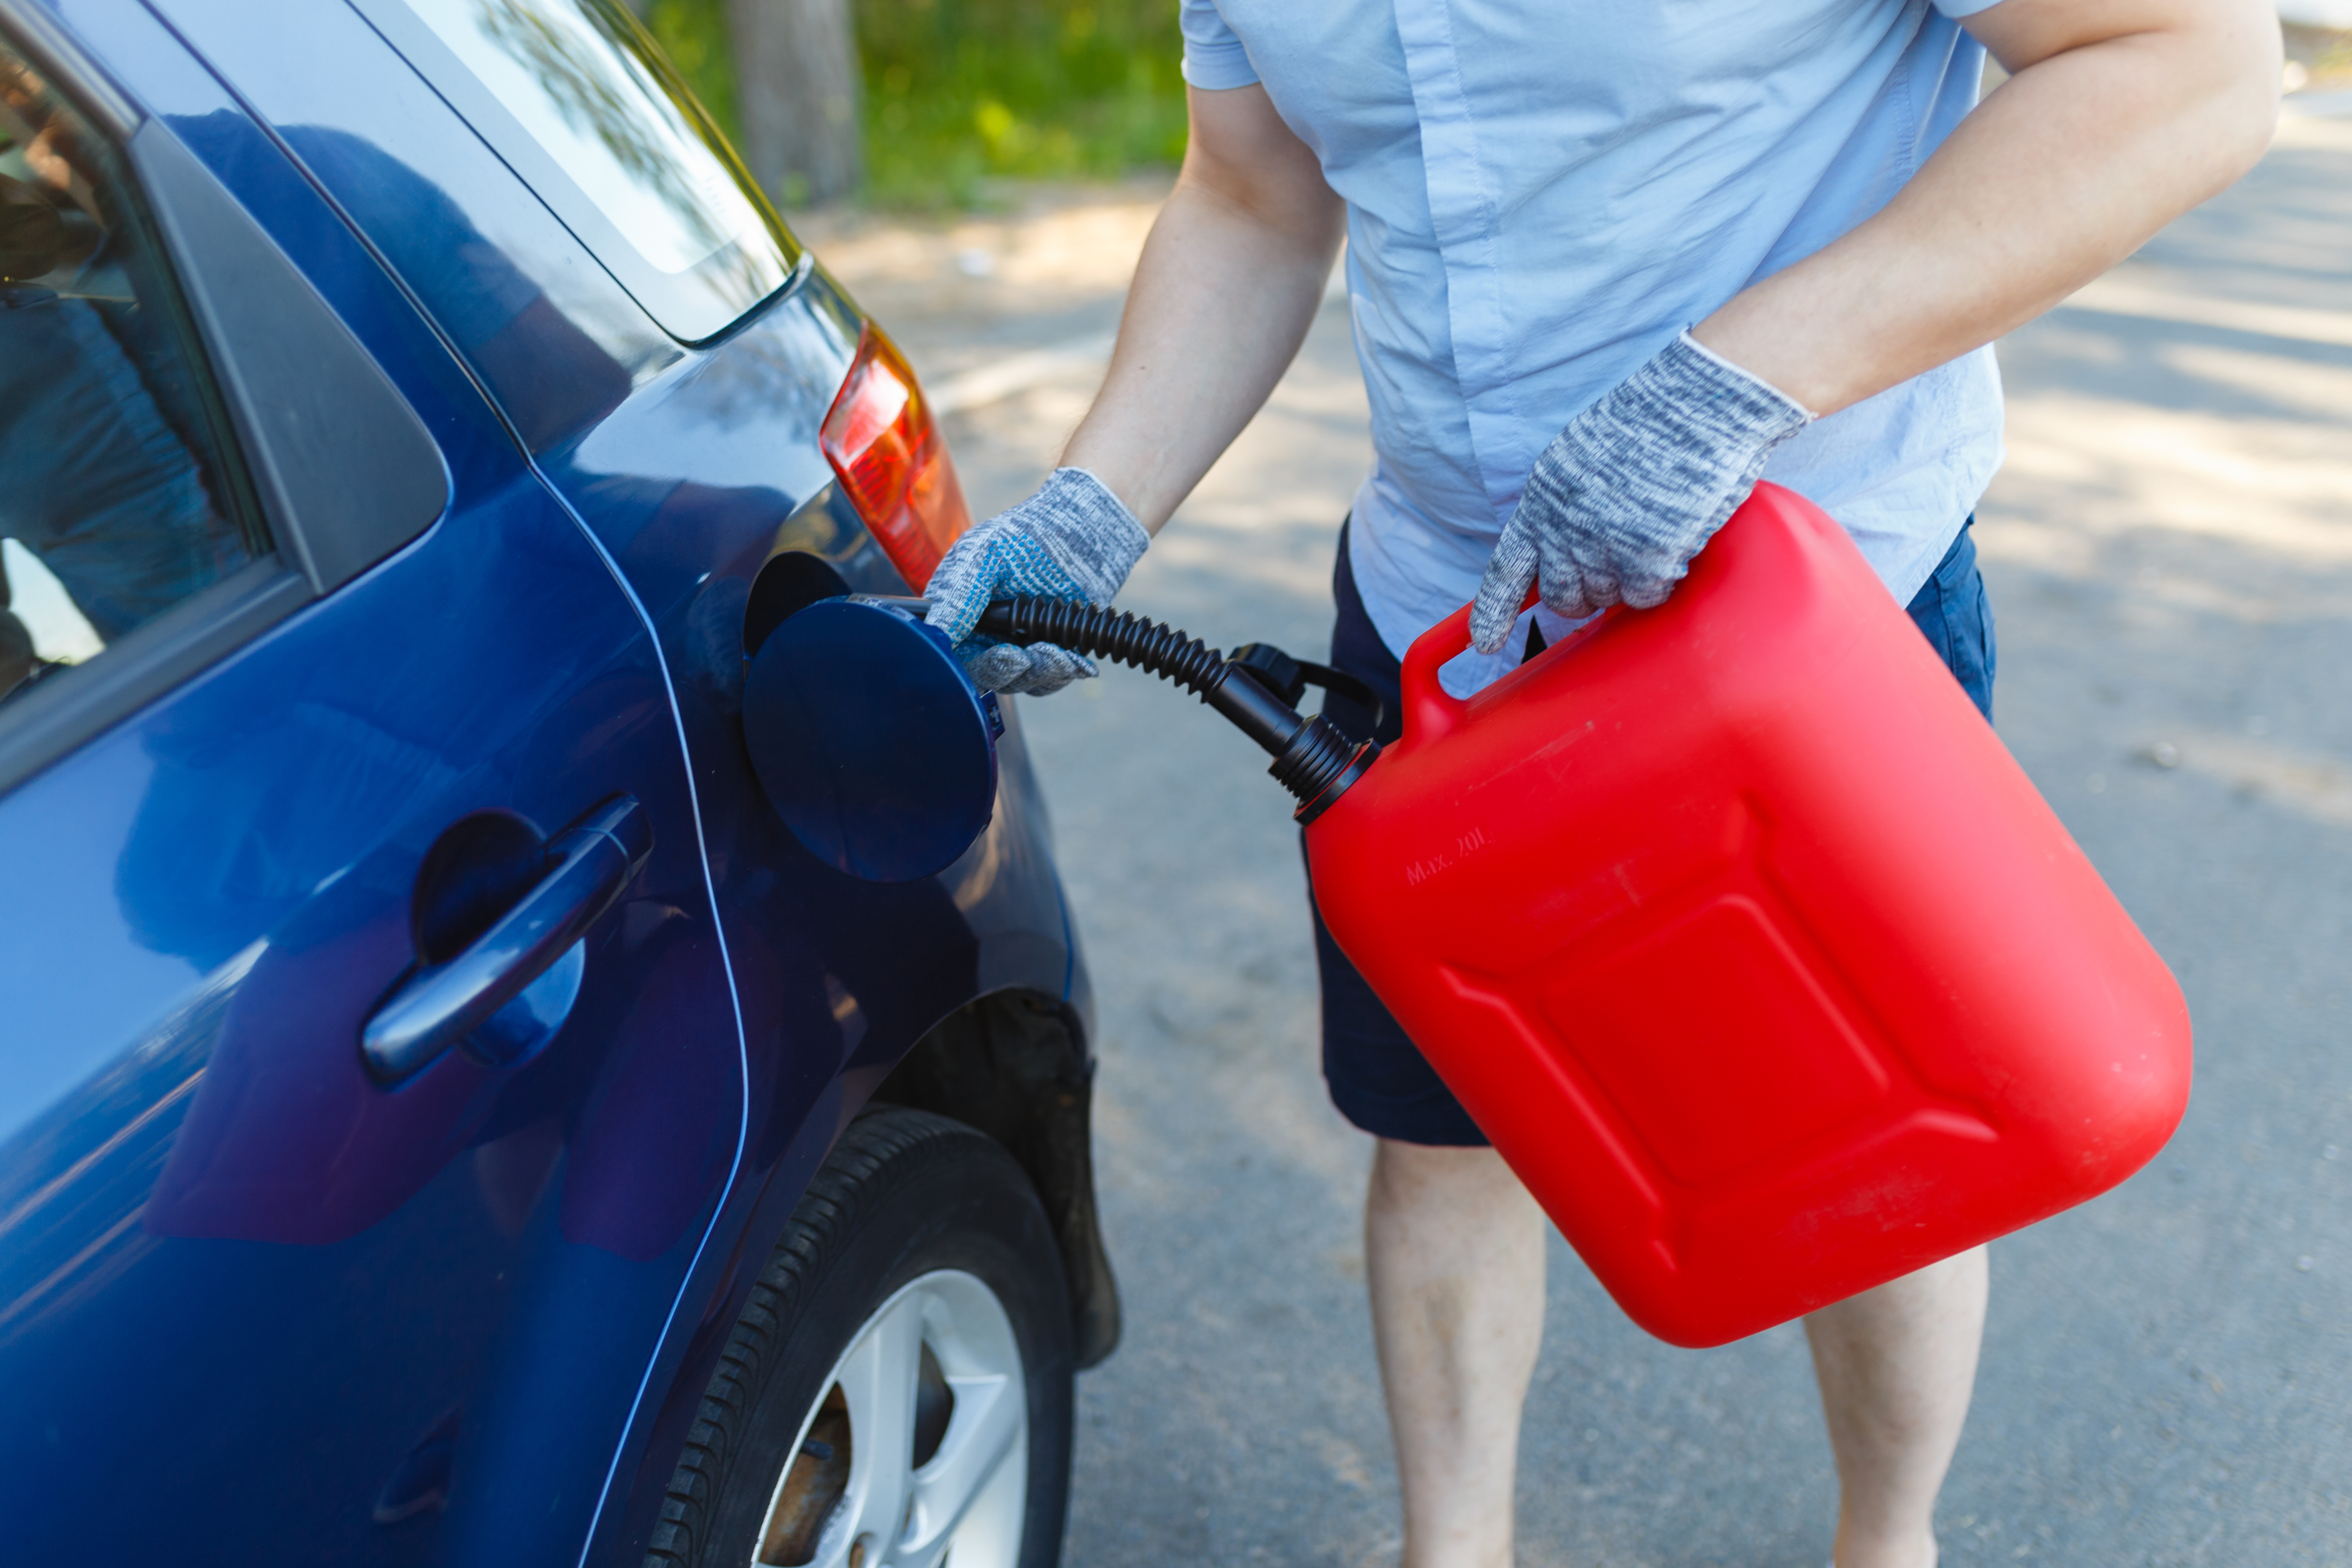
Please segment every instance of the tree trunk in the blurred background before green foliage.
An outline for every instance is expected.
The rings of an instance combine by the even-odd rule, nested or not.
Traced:
[[[731,0],[743,160],[779,207],[856,190],[858,49],[849,0]]]

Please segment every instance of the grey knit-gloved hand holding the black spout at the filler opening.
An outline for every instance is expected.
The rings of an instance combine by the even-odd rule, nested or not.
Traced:
[[[983,691],[1047,696],[1094,675],[1094,661],[1051,642],[1016,646],[974,637],[990,599],[1028,592],[1077,604],[1110,604],[1152,536],[1084,468],[1056,468],[1035,496],[997,512],[948,548],[924,595],[924,616],[957,646]]]

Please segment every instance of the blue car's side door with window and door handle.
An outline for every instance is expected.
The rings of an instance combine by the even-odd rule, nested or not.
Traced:
[[[263,127],[66,16],[0,0],[7,1556],[576,1561],[743,1135],[668,679]]]

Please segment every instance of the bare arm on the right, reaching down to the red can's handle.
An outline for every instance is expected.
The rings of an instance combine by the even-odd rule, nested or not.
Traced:
[[[2002,0],[1966,26],[2011,80],[1877,216],[1691,331],[1816,414],[2042,315],[2277,125],[2267,0]]]

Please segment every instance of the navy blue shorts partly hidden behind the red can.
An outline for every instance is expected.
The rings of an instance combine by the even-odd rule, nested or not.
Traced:
[[[1969,536],[1973,522],[1971,517],[1962,524],[1959,538],[1936,567],[1936,576],[1912,597],[1910,618],[1919,623],[1936,654],[1990,719],[1992,604],[1985,599],[1985,578],[1976,569],[1976,541]],[[1399,665],[1397,656],[1381,642],[1381,632],[1371,628],[1364,599],[1355,592],[1345,529],[1338,536],[1331,597],[1338,599],[1331,665],[1381,693],[1385,715],[1376,738],[1381,745],[1390,745],[1404,733]],[[1371,712],[1336,691],[1324,698],[1324,717],[1355,736],[1371,731]],[[1312,903],[1312,893],[1308,900]],[[1454,1091],[1439,1081],[1397,1020],[1381,1006],[1381,999],[1371,994],[1364,976],[1331,940],[1322,914],[1315,914],[1315,961],[1322,969],[1324,1084],[1331,1086],[1331,1105],[1338,1107],[1338,1114],[1376,1138],[1458,1150],[1482,1147],[1486,1133],[1477,1131],[1470,1112],[1461,1107]]]

